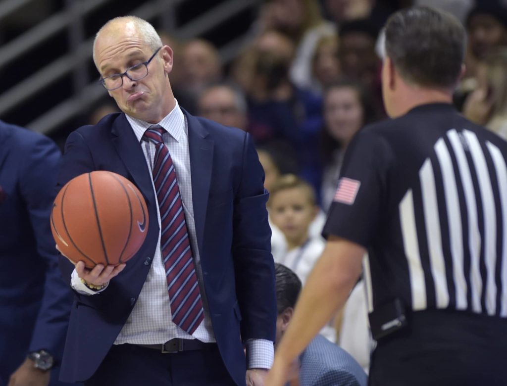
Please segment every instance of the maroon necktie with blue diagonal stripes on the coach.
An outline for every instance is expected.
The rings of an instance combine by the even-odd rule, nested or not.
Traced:
[[[185,221],[182,199],[171,155],[159,126],[150,126],[144,139],[155,144],[153,181],[160,209],[160,246],[171,302],[172,321],[192,334],[204,319],[201,294]]]

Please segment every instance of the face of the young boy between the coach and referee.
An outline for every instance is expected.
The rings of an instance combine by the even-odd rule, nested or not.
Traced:
[[[270,216],[287,241],[302,244],[308,238],[308,227],[315,218],[316,207],[304,188],[294,187],[271,197]]]

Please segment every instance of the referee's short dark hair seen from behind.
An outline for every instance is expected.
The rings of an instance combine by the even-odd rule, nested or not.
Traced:
[[[423,87],[452,88],[461,73],[466,32],[460,21],[447,12],[412,7],[387,20],[385,49],[405,81]]]

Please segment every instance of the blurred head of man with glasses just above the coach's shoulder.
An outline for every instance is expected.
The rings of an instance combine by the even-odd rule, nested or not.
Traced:
[[[227,84],[208,86],[197,105],[201,117],[246,131],[246,99],[239,89]]]

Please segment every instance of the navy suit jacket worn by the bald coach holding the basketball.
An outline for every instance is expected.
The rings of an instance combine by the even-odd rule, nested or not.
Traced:
[[[236,383],[245,384],[242,342],[274,340],[276,298],[264,172],[248,134],[185,112],[188,122],[192,196],[204,287],[222,359]],[[142,192],[150,224],[146,241],[106,290],[76,294],[61,379],[88,379],[125,324],[157,247],[157,202],[141,146],[125,115],[111,114],[96,126],[71,133],[59,186],[92,170],[131,180]],[[62,261],[70,282],[73,266]]]

